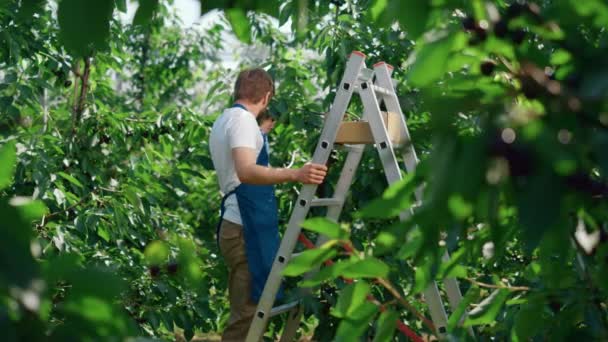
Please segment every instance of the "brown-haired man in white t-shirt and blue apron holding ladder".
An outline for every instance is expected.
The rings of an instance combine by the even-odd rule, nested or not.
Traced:
[[[209,147],[222,200],[220,251],[229,268],[230,318],[223,341],[244,341],[279,245],[273,184],[321,184],[325,165],[271,168],[256,117],[266,110],[274,83],[263,69],[241,72],[235,104],[215,121]]]

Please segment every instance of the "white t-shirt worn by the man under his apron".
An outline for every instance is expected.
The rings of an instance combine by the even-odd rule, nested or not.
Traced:
[[[228,108],[215,120],[209,138],[211,160],[217,173],[222,194],[239,186],[241,182],[236,175],[232,149],[249,147],[260,154],[264,140],[255,116],[239,107]],[[226,200],[224,219],[242,225],[241,214],[235,195]]]

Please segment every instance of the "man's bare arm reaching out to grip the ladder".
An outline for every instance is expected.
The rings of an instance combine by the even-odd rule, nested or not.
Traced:
[[[239,180],[247,184],[268,185],[285,182],[321,184],[327,174],[327,167],[319,164],[306,164],[299,169],[257,165],[255,151],[248,147],[233,148],[232,158]]]

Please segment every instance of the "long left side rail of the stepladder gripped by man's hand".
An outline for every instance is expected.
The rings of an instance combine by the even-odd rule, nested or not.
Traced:
[[[329,158],[334,141],[336,140],[338,127],[340,122],[342,122],[344,113],[346,112],[354,91],[354,82],[357,79],[359,71],[364,67],[364,59],[365,55],[360,52],[353,52],[350,55],[346,64],[344,76],[340,82],[340,88],[336,92],[336,97],[332,108],[330,109],[329,117],[321,132],[321,139],[315,149],[313,163],[325,164]],[[272,265],[270,275],[266,280],[266,285],[264,286],[264,291],[262,291],[262,296],[254,314],[249,332],[247,333],[247,342],[258,342],[264,335],[272,305],[274,304],[276,294],[282,282],[283,269],[287,265],[293,249],[295,248],[301,230],[300,224],[308,214],[310,202],[316,188],[316,185],[304,185],[302,187],[296,206],[289,219],[287,230],[281,240],[281,245]]]

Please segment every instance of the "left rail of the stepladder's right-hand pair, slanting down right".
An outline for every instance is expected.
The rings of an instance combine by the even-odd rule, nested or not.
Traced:
[[[372,136],[376,143],[376,149],[378,150],[380,160],[384,167],[384,173],[389,185],[393,184],[402,179],[401,169],[397,163],[397,158],[392,147],[392,142],[388,136],[386,126],[381,118],[380,107],[376,94],[369,84],[366,83],[362,83],[358,89],[363,102],[365,115],[367,115]],[[435,282],[432,282],[429,287],[427,287],[427,289],[424,291],[424,296],[429,306],[433,323],[437,328],[438,335],[440,337],[445,336],[448,318],[443,307],[443,301],[441,300],[439,289],[437,288],[437,284]]]

